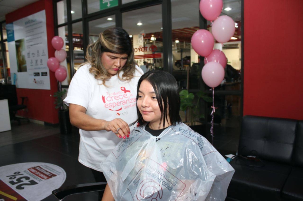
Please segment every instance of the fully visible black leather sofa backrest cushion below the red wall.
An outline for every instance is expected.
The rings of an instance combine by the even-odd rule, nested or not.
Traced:
[[[296,129],[296,120],[244,116],[238,154],[290,164]]]

